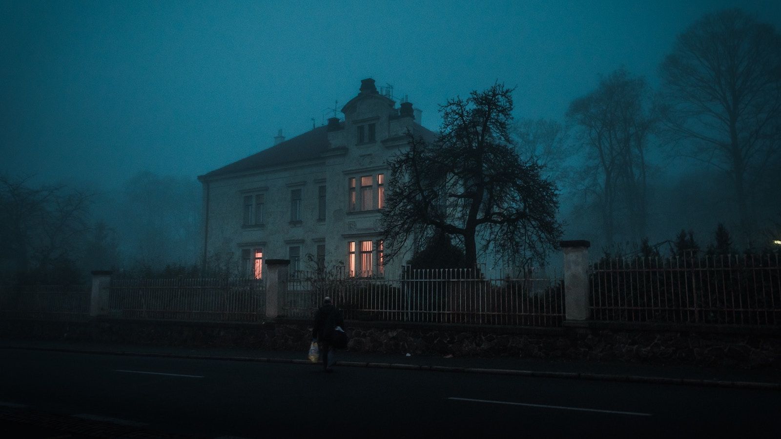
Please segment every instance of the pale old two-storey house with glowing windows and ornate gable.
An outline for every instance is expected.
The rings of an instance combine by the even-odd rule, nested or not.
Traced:
[[[353,276],[383,273],[378,225],[387,159],[408,147],[407,130],[434,134],[415,120],[411,103],[397,108],[373,79],[361,81],[341,112],[344,121],[332,117],[289,140],[280,132],[276,145],[198,177],[204,263],[232,255],[256,278],[263,259],[290,259],[291,273],[313,269],[308,260],[344,263]]]

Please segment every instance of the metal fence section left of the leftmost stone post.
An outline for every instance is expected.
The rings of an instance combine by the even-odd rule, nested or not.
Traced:
[[[29,319],[86,319],[89,285],[0,286],[0,313]]]

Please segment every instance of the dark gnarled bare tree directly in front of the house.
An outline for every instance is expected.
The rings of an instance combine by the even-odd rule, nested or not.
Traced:
[[[465,264],[480,251],[544,260],[561,235],[556,187],[536,162],[522,160],[508,134],[512,89],[494,84],[441,106],[440,137],[408,134],[409,149],[389,162],[381,228],[387,259],[412,238],[415,248],[438,231],[463,245]]]

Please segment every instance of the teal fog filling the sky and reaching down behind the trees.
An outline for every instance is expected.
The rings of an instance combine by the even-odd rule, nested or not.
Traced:
[[[644,233],[632,225],[637,219],[624,202],[626,212],[616,210],[608,238],[590,202],[594,195],[583,186],[591,164],[570,111],[618,69],[643,78],[652,100],[676,37],[704,14],[735,7],[781,28],[781,5],[773,1],[308,2],[295,8],[285,2],[2,2],[0,175],[29,190],[27,196],[56,192],[59,198],[46,203],[73,201],[74,193],[86,197],[67,232],[80,244],[61,252],[77,261],[77,271],[189,266],[198,262],[198,175],[268,148],[278,130],[291,138],[323,125],[366,77],[408,97],[430,130],[439,128],[437,109],[448,98],[498,81],[515,87],[519,140],[524,120],[561,126],[553,152],[540,150],[537,159],[547,161],[547,175],[559,186],[565,239],[590,240],[599,255],[631,254],[647,237],[669,254],[672,243],[665,241],[681,230],[692,230],[705,249],[722,223],[733,231],[736,251],[761,249],[772,236],[781,239],[778,155],[754,176],[744,197],[751,233],[738,234],[745,218],[735,207],[729,173],[704,155],[686,157],[679,139],[651,133],[644,144]],[[566,154],[557,155],[557,148]],[[57,206],[45,209],[51,214]],[[33,233],[33,226],[16,224],[0,235],[5,267],[22,263],[16,233]],[[26,258],[41,259],[45,248],[71,242],[55,241],[30,244]],[[105,252],[100,261],[88,256],[96,252],[87,249],[90,243]]]

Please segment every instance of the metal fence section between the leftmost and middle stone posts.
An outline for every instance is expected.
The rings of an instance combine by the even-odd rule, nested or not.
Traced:
[[[111,280],[109,317],[255,322],[266,315],[256,279]]]

